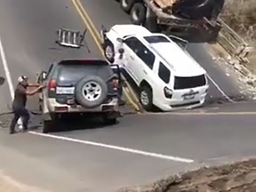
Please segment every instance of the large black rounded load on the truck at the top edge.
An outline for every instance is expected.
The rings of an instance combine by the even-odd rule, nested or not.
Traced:
[[[224,0],[178,0],[172,11],[175,15],[188,19],[211,19],[214,10],[221,10],[223,5]]]

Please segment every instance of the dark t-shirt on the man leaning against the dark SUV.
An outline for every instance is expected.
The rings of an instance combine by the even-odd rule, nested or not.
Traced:
[[[12,103],[13,108],[23,108],[27,102],[27,87],[18,84],[14,92],[14,100]]]

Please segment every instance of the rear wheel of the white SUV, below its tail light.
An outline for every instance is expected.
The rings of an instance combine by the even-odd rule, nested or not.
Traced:
[[[140,89],[140,103],[147,111],[151,111],[153,109],[153,94],[152,90],[148,86],[143,86]]]

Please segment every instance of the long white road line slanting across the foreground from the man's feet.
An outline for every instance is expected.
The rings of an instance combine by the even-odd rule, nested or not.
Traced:
[[[118,146],[114,146],[114,145],[107,145],[107,144],[103,144],[103,143],[96,143],[96,142],[92,142],[92,141],[72,139],[72,138],[68,138],[68,137],[61,137],[61,136],[57,136],[57,135],[44,134],[44,133],[33,132],[33,131],[30,131],[29,133],[34,134],[34,135],[40,135],[40,136],[43,136],[43,137],[59,139],[59,140],[66,140],[66,141],[71,141],[71,142],[76,142],[76,143],[83,143],[83,144],[86,144],[86,145],[116,149],[116,150],[119,150],[119,151],[125,151],[125,152],[140,154],[140,155],[144,155],[144,156],[151,156],[151,157],[156,157],[156,158],[161,158],[161,159],[168,159],[168,160],[178,161],[178,162],[182,162],[182,163],[193,163],[194,162],[194,160],[192,160],[192,159],[185,159],[185,158],[162,155],[162,154],[157,154],[157,153],[150,153],[150,152],[146,152],[146,151],[141,151],[141,150],[136,150],[136,149],[131,149],[131,148],[118,147]]]

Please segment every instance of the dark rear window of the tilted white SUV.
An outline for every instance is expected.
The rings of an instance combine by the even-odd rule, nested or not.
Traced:
[[[205,75],[192,77],[178,77],[174,78],[174,89],[189,89],[194,87],[201,87],[206,84]]]

